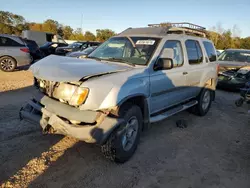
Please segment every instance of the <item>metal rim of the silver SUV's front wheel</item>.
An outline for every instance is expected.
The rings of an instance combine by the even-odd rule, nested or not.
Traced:
[[[135,116],[133,116],[127,121],[126,127],[124,128],[122,147],[125,151],[128,151],[133,147],[137,138],[138,129],[139,121]]]

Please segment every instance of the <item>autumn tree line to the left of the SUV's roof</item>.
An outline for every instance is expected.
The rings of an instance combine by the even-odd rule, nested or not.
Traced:
[[[0,11],[0,33],[21,35],[23,30],[43,31],[58,34],[66,40],[100,41],[103,42],[115,35],[111,29],[97,29],[96,35],[81,28],[72,29],[68,25],[48,19],[43,23],[27,22],[21,15]]]

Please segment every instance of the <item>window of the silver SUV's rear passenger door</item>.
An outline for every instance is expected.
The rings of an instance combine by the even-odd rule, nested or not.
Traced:
[[[187,49],[189,64],[194,65],[202,63],[203,54],[199,42],[196,40],[187,40],[185,42],[185,45]]]

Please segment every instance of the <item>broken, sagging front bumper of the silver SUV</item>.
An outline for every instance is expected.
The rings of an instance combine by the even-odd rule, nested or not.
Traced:
[[[19,115],[20,119],[26,119],[40,124],[44,133],[62,134],[77,138],[88,143],[103,144],[123,119],[111,118],[105,114],[94,111],[81,111],[74,108],[77,116],[72,119],[72,109],[66,104],[55,101],[41,94],[35,96],[23,108]],[[96,116],[98,114],[98,116]],[[79,117],[78,117],[79,116]],[[94,117],[94,123],[91,123]],[[79,118],[85,122],[80,125],[70,123],[70,120]],[[87,123],[86,123],[87,121]]]

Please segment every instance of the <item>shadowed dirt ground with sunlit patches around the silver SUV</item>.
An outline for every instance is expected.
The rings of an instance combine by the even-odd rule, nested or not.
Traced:
[[[31,84],[27,71],[0,72],[0,187],[250,187],[250,122],[247,108],[234,106],[237,93],[218,91],[205,117],[182,112],[154,124],[117,165],[95,145],[20,121]],[[188,127],[177,128],[179,119]]]

